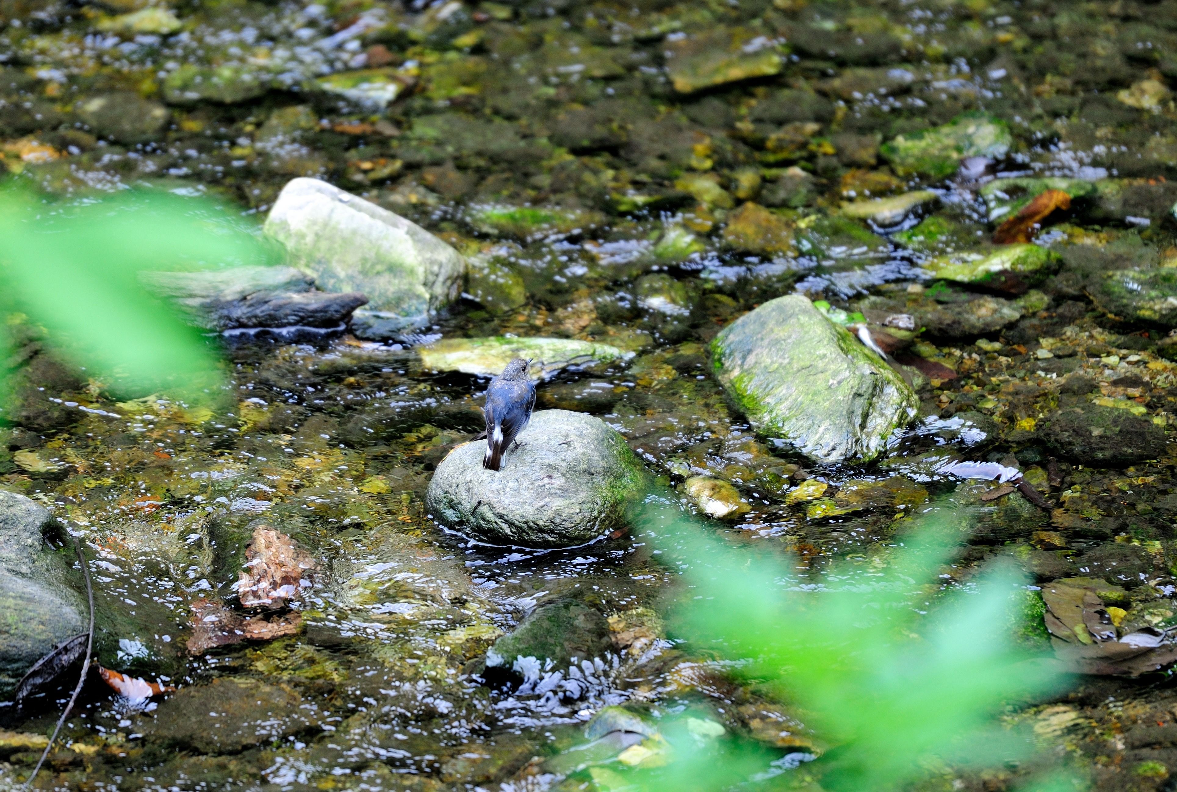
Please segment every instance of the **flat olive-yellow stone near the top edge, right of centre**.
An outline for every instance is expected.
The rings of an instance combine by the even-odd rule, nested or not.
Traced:
[[[670,46],[671,84],[679,93],[778,74],[780,53],[767,36],[745,28],[714,28]]]

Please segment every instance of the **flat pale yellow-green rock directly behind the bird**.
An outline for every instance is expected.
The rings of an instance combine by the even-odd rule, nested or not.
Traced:
[[[460,371],[492,377],[512,358],[530,358],[528,372],[539,379],[561,368],[593,368],[632,357],[616,346],[570,338],[447,338],[418,350],[431,371]]]

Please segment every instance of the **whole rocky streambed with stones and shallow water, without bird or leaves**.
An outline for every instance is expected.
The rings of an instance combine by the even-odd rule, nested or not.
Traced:
[[[1169,0],[0,2],[0,169],[220,197],[284,259],[144,273],[226,361],[199,404],[4,306],[0,699],[85,624],[71,533],[158,686],[92,679],[38,787],[623,788],[681,712],[809,783],[823,736],[667,626],[661,486],[811,584],[957,507],[940,586],[1011,559],[1086,674],[1009,719],[1168,788],[1173,51]],[[0,706],[0,785],[67,692]]]

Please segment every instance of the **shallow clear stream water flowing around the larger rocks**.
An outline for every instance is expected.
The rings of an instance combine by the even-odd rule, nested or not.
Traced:
[[[1177,422],[1171,324],[1100,310],[1091,287],[1177,262],[1173,53],[1171,0],[0,0],[0,162],[56,199],[162,185],[250,221],[315,175],[524,291],[464,298],[388,342],[225,337],[226,384],[205,404],[120,400],[9,322],[27,352],[15,365],[44,390],[0,428],[2,484],[85,537],[99,610],[121,619],[104,664],[177,688],[131,700],[89,685],[36,786],[613,788],[576,774],[570,751],[623,703],[654,719],[709,713],[763,751],[750,786],[794,783],[783,771],[817,738],[722,657],[671,640],[659,614],[681,586],[660,551],[633,535],[491,547],[430,518],[431,471],[480,431],[486,382],[423,370],[414,347],[438,337],[632,352],[543,382],[540,406],[601,417],[670,485],[731,481],[749,508],[714,530],[792,553],[814,579],[836,559],[884,564],[904,517],[943,495],[980,504],[946,585],[1008,557],[1038,586],[1121,585],[1126,611],[1169,626],[1173,457],[1065,458],[1036,425],[1077,400]],[[970,111],[1008,125],[1008,151],[958,157],[947,174],[899,173],[880,153]],[[1017,318],[953,332],[942,317],[911,347],[920,417],[883,460],[822,466],[752,432],[711,375],[723,326],[793,291],[850,312],[969,313],[983,292],[933,293],[920,265],[988,241],[1000,213],[980,191],[1016,177],[1112,186],[1044,221],[1057,274],[1020,297],[984,292]],[[890,225],[836,214],[917,188],[935,202]],[[725,237],[747,200],[790,224],[790,249]],[[1018,467],[1053,510],[984,499],[996,485],[937,473],[940,458]],[[804,481],[827,486],[787,499]],[[187,651],[199,601],[232,600],[260,519],[314,559],[298,631]],[[561,598],[611,617],[609,652],[518,690],[471,677],[498,637]],[[1033,599],[1022,639],[1049,653]],[[47,732],[64,698],[7,728]],[[1177,718],[1166,673],[1086,678],[1013,717],[1098,788],[1171,788],[1177,738],[1141,737]],[[6,739],[0,786],[40,752]],[[1000,790],[1018,768],[936,772],[943,788]]]

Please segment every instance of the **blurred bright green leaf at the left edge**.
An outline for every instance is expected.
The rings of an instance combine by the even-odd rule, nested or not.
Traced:
[[[139,273],[272,258],[214,201],[164,191],[52,204],[9,181],[0,185],[0,307],[44,325],[79,365],[148,391],[169,380],[207,385],[218,364]]]

